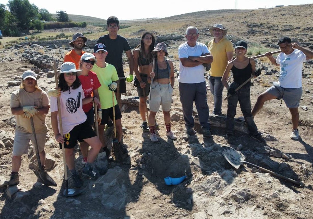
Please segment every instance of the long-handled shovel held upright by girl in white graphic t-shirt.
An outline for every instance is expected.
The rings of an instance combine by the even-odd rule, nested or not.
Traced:
[[[58,72],[57,72],[57,63],[54,61],[54,78],[55,78],[55,87],[58,87]],[[62,116],[61,116],[61,108],[60,108],[60,97],[57,97],[58,102],[58,114],[59,114],[59,126],[60,126],[60,135],[63,136],[63,128],[62,128]],[[80,189],[69,189],[69,182],[67,177],[67,169],[66,169],[66,160],[65,160],[65,148],[64,143],[62,143],[62,154],[63,154],[63,165],[64,165],[64,178],[65,178],[65,190],[63,195],[65,197],[76,196],[83,192]]]

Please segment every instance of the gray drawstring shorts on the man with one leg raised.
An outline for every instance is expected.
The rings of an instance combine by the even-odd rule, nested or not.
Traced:
[[[302,96],[302,87],[300,88],[282,88],[277,82],[265,91],[276,96],[276,99],[283,99],[288,108],[298,108]]]

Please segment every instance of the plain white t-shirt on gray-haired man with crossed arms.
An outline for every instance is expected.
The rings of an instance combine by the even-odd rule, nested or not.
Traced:
[[[178,47],[178,58],[188,58],[188,56],[201,56],[208,53],[208,47],[197,42],[194,47],[191,47],[186,43],[183,43]],[[179,76],[178,82],[186,84],[195,84],[205,81],[204,78],[205,68],[203,65],[198,65],[195,67],[185,67],[182,62],[179,61]]]

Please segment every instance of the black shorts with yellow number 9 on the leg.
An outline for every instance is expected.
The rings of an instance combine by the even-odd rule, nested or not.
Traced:
[[[77,140],[79,142],[84,141],[83,139],[92,138],[97,136],[88,122],[85,121],[79,125],[76,125],[69,133],[64,134],[64,148],[74,148],[77,144]],[[60,144],[60,148],[62,148],[62,144]]]

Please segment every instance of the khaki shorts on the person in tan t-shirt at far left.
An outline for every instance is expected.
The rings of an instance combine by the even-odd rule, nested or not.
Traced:
[[[47,132],[36,134],[37,143],[38,143],[38,152],[44,150],[44,145],[46,144],[46,134]],[[32,141],[32,144],[35,145],[35,138],[31,133],[21,132],[15,130],[14,143],[13,143],[13,156],[21,156],[23,154],[28,154],[29,141]],[[33,148],[34,153],[35,146]]]

